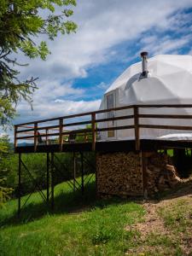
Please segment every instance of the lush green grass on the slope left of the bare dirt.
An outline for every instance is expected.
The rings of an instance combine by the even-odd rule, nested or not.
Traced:
[[[96,201],[95,183],[73,194],[67,183],[55,187],[55,212],[38,193],[16,215],[17,201],[0,213],[0,255],[124,255],[137,232],[125,225],[143,218],[143,207],[120,199]]]

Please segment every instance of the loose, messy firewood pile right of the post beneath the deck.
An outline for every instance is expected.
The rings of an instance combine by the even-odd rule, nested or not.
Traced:
[[[181,181],[167,154],[151,154],[147,158],[146,172],[148,195],[172,189]]]

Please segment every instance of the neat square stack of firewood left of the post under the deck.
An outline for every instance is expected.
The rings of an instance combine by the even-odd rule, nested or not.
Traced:
[[[143,195],[141,155],[97,154],[97,191],[100,195]]]

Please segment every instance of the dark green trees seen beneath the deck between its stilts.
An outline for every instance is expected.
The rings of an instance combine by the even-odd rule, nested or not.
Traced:
[[[18,195],[18,154],[14,153],[13,144],[8,137],[0,138],[2,150],[0,152],[0,195],[1,202],[6,198],[17,197]],[[26,168],[31,172],[32,177],[41,189],[46,188],[47,154],[22,154],[22,160]],[[50,160],[50,154],[49,154]],[[95,155],[92,152],[84,153],[85,174],[94,172]],[[55,154],[55,184],[73,178],[73,153]],[[76,176],[81,175],[81,156],[76,153]],[[8,188],[7,190],[3,188]],[[9,189],[11,188],[11,189]],[[26,195],[34,189],[34,183],[24,166],[21,169],[21,194]],[[36,188],[37,189],[37,188]],[[2,194],[8,192],[6,196]],[[10,194],[12,192],[12,194]]]

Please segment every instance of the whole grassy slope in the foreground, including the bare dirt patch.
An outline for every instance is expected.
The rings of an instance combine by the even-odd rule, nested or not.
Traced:
[[[185,255],[190,248],[180,237],[190,239],[190,203],[183,198],[148,208],[143,201],[96,201],[94,180],[84,197],[61,183],[55,187],[55,212],[37,193],[20,219],[15,200],[1,210],[0,255]]]

